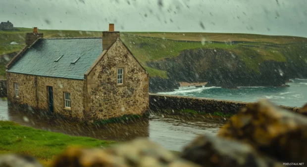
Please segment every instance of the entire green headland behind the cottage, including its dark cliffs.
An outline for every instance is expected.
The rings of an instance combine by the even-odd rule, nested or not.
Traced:
[[[0,53],[22,47],[26,32],[0,32]],[[101,36],[101,32],[39,30],[44,37]],[[121,33],[121,39],[150,73],[150,91],[171,91],[178,82],[208,85],[279,86],[307,78],[307,39],[225,33]],[[10,42],[20,45],[9,45]],[[3,62],[3,61],[2,61]],[[3,63],[2,63],[3,64]],[[0,64],[0,75],[4,67]]]

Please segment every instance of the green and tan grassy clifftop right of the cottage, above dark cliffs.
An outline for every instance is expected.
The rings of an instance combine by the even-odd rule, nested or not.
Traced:
[[[286,62],[287,58],[298,59],[297,56],[286,54],[286,50],[293,53],[307,50],[307,39],[283,36],[216,33],[186,33],[183,36],[182,33],[123,33],[121,39],[144,66],[150,61],[176,57],[183,50],[206,48],[226,50],[232,56],[241,58],[247,67],[259,72],[259,65],[266,60]],[[305,58],[307,56],[306,54],[297,55]],[[165,77],[165,71],[154,69],[154,72],[155,76]]]

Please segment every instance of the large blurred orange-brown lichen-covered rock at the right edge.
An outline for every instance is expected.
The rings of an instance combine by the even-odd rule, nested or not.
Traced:
[[[266,100],[242,109],[218,136],[247,142],[285,162],[307,162],[307,118]]]

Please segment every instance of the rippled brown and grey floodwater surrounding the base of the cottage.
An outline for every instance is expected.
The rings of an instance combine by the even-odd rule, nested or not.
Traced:
[[[9,120],[20,125],[60,132],[74,136],[88,136],[102,140],[128,141],[136,137],[148,137],[169,150],[181,151],[199,134],[215,135],[225,120],[203,116],[165,116],[151,114],[149,119],[130,124],[108,124],[100,126],[68,123],[61,119],[26,114],[8,107],[0,100],[0,120]]]

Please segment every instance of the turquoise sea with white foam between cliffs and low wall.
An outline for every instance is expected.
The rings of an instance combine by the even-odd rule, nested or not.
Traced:
[[[238,89],[221,87],[179,87],[172,92],[159,92],[158,94],[205,97],[222,100],[235,100],[243,102],[256,102],[259,99],[268,99],[276,105],[302,107],[307,103],[307,79],[292,79],[287,83],[290,87],[264,87],[250,86]]]

